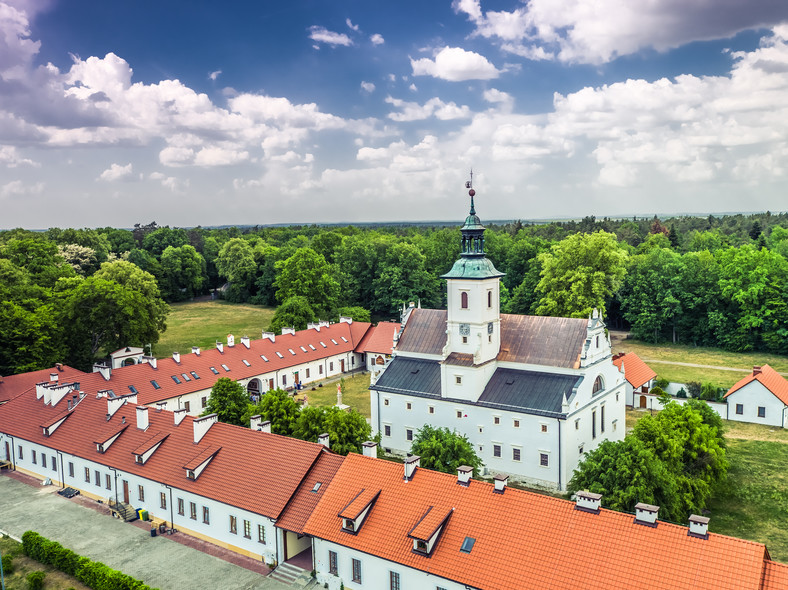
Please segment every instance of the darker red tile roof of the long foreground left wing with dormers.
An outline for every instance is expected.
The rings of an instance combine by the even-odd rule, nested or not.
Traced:
[[[150,426],[143,432],[136,428],[133,404],[124,405],[107,421],[107,399],[87,395],[68,420],[51,436],[44,437],[39,425],[59,415],[64,407],[65,400],[55,407],[45,406],[43,399],[36,399],[34,390],[29,391],[0,406],[0,432],[269,518],[279,517],[315,460],[325,452],[325,447],[316,443],[219,422],[203,436],[201,448],[221,446],[222,451],[197,480],[190,480],[183,470],[183,465],[195,455],[190,416],[175,426],[172,412],[149,411]],[[98,453],[95,433],[120,429],[124,416],[130,427],[105,453]],[[151,433],[169,436],[140,465],[132,451],[148,443]]]

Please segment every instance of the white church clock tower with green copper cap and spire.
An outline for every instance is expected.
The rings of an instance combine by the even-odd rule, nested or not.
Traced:
[[[465,183],[470,189],[471,210],[460,229],[460,259],[442,277],[448,288],[444,357],[470,354],[478,365],[494,359],[501,348],[500,278],[504,273],[484,254],[484,226],[476,215],[472,182],[473,172]]]

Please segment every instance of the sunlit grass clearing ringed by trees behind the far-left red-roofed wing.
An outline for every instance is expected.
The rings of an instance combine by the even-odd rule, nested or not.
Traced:
[[[175,303],[167,317],[167,330],[153,346],[158,358],[178,351],[187,353],[192,346],[212,348],[216,341],[227,341],[227,334],[260,338],[271,322],[274,308],[226,301]]]

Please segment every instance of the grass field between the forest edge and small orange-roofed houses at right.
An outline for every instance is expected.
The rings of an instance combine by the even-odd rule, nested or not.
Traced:
[[[683,344],[649,344],[638,340],[621,340],[613,347],[613,352],[634,352],[654,369],[659,377],[668,381],[687,383],[699,381],[712,383],[717,387],[731,387],[746,376],[754,365],[770,365],[776,371],[788,373],[788,357],[762,352],[735,353],[717,348],[703,348]],[[730,367],[740,371],[685,367],[671,363],[692,363]]]

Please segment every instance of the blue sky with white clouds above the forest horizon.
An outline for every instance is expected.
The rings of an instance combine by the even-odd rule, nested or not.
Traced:
[[[0,0],[0,228],[785,211],[785,0]]]

